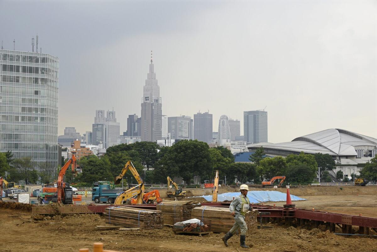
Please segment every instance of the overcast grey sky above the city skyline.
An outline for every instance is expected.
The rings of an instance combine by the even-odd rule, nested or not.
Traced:
[[[162,114],[268,111],[268,141],[329,128],[377,138],[376,1],[4,1],[5,49],[60,59],[59,135],[141,114],[150,51]]]

